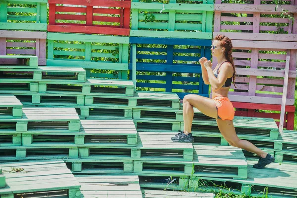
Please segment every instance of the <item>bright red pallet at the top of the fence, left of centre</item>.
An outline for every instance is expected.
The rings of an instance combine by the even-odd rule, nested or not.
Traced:
[[[49,0],[49,32],[129,35],[131,0]],[[67,20],[62,23],[59,20]]]

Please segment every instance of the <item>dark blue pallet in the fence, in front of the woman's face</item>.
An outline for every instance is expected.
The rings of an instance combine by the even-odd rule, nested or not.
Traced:
[[[175,92],[180,99],[189,93],[208,97],[198,61],[210,60],[211,40],[130,37],[130,43],[130,79],[136,87]]]

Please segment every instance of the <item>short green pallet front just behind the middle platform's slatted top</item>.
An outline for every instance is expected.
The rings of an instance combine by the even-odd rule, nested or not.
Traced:
[[[83,106],[80,108],[80,117],[90,120],[132,119],[132,108]]]

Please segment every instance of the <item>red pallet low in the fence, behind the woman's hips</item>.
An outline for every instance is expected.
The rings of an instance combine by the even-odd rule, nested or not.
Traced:
[[[237,108],[237,110],[235,111],[236,116],[273,118],[276,120],[276,124],[279,126],[281,105],[256,104],[256,103],[246,103],[246,102],[232,102],[232,104],[234,108]],[[245,109],[245,110],[240,110],[240,109]],[[269,110],[269,111],[279,111],[279,112],[268,113],[268,112],[258,112],[257,110]],[[287,128],[288,130],[294,129],[294,112],[295,112],[295,106],[286,105],[284,128]]]

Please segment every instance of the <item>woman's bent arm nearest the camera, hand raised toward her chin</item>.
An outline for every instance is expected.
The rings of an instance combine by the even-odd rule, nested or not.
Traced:
[[[223,87],[224,83],[226,82],[228,76],[230,75],[230,71],[233,72],[232,65],[226,62],[220,67],[218,78],[216,78],[211,68],[211,62],[207,61],[206,63],[204,63],[204,66],[207,70],[209,83],[211,87],[214,89],[214,91],[221,89],[221,87]],[[232,67],[232,70],[229,67]]]

